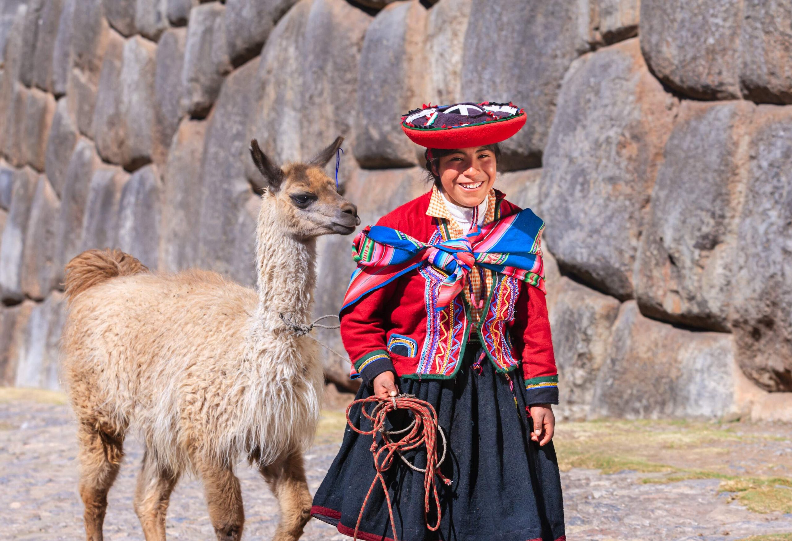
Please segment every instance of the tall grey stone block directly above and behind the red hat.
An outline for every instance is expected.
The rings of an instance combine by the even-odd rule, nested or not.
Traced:
[[[589,48],[588,10],[580,4],[473,2],[474,16],[465,34],[463,96],[469,101],[513,101],[527,115],[524,128],[502,144],[506,170],[542,163],[558,87],[569,63]]]

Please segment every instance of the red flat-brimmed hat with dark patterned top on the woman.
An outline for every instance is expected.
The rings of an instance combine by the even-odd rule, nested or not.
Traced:
[[[402,116],[402,130],[427,148],[482,147],[500,143],[520,131],[525,111],[509,103],[424,105]]]

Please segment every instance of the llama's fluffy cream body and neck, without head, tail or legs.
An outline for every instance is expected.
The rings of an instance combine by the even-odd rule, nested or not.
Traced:
[[[271,463],[310,442],[322,368],[280,314],[310,317],[315,243],[259,223],[258,291],[193,270],[116,276],[74,297],[63,368],[82,421],[137,432],[171,471],[193,456]]]

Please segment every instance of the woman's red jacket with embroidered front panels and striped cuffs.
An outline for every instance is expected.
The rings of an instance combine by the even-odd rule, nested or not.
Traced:
[[[431,242],[432,237],[438,240],[444,219],[427,215],[431,197],[428,192],[403,204],[377,225],[421,242]],[[517,211],[520,208],[497,192],[496,219]],[[341,313],[341,338],[352,359],[352,377],[360,375],[366,384],[389,370],[406,378],[455,377],[471,333],[470,310],[461,294],[446,311],[432,309],[432,284],[444,277],[437,273],[432,265],[423,265],[371,291]],[[545,295],[498,274],[490,300],[484,309],[489,317],[482,316],[479,338],[487,356],[501,372],[521,365],[528,403],[558,404],[558,371]],[[433,313],[437,315],[429,321],[428,314]],[[487,326],[484,321],[496,323]]]

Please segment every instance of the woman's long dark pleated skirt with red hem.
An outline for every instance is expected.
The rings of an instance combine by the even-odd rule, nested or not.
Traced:
[[[401,379],[399,389],[432,404],[448,439],[448,453],[441,471],[451,486],[437,483],[441,520],[438,531],[426,528],[424,474],[394,459],[386,472],[393,502],[396,533],[400,541],[556,541],[564,538],[561,479],[552,442],[544,447],[531,441],[526,414],[525,385],[520,370],[510,373],[514,391],[505,375],[489,360],[481,370],[471,365],[480,352],[478,343],[466,348],[463,365],[455,379]],[[356,398],[371,390],[360,387]],[[515,406],[516,399],[516,406]],[[369,406],[371,408],[372,406]],[[371,429],[371,421],[352,410],[359,428]],[[393,429],[409,424],[407,413],[390,414]],[[361,426],[362,424],[362,426]],[[438,452],[442,444],[438,436]],[[352,535],[364,497],[375,478],[371,436],[352,429],[333,465],[314,496],[311,514]],[[426,463],[425,451],[406,455],[417,467]],[[430,524],[436,523],[434,501]],[[382,487],[377,484],[360,522],[359,539],[393,539]]]

